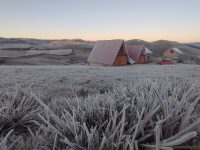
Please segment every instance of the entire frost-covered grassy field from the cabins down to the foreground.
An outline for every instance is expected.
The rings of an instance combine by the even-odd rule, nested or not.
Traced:
[[[0,66],[0,149],[199,148],[200,66]]]

